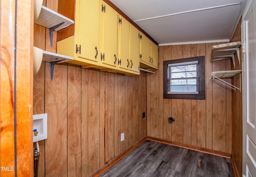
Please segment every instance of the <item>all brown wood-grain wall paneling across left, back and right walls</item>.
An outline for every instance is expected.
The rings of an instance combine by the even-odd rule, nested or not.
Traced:
[[[44,5],[57,11],[58,1],[44,0]],[[236,30],[234,41],[239,35]],[[56,36],[50,48],[48,29],[34,25],[34,46],[56,52]],[[232,153],[232,116],[233,155],[242,168],[242,96],[210,81],[212,71],[232,67],[230,60],[210,62],[216,44],[160,46],[159,70],[140,76],[56,64],[50,81],[49,63],[43,62],[34,77],[33,103],[34,114],[48,113],[48,139],[39,142],[39,176],[90,175],[146,135]],[[163,61],[194,56],[205,56],[206,99],[163,99]]]

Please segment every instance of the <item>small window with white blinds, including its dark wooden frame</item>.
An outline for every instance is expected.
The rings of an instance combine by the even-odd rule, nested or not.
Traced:
[[[204,56],[164,61],[164,98],[205,99]]]

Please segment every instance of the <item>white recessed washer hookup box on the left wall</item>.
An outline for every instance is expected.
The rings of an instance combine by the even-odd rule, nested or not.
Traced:
[[[47,139],[47,113],[33,115],[33,142]]]

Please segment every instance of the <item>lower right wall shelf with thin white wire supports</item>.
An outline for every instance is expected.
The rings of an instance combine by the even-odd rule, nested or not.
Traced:
[[[217,72],[212,72],[212,76],[210,78],[210,80],[213,82],[214,80],[224,84],[225,86],[234,89],[236,91],[236,89],[239,89],[241,92],[241,72],[242,70],[231,70],[231,71],[217,71]],[[234,86],[224,80],[222,80],[221,78],[230,78],[230,77],[236,77],[236,75],[239,74],[240,77],[240,88],[236,87],[236,79],[234,79]]]

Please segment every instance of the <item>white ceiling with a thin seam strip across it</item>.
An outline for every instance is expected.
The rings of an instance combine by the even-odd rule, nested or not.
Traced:
[[[159,45],[229,41],[246,0],[110,0]]]

